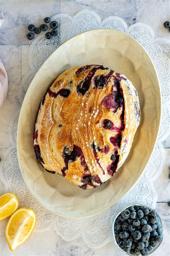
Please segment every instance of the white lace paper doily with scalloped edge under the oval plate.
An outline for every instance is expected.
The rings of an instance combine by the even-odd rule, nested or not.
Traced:
[[[1,192],[15,193],[18,197],[20,207],[32,208],[36,212],[37,231],[53,229],[65,240],[72,240],[80,235],[89,247],[98,248],[113,239],[111,219],[123,206],[132,202],[140,202],[153,208],[156,206],[157,194],[153,182],[162,170],[165,153],[161,142],[166,139],[169,131],[168,84],[170,83],[170,44],[166,39],[155,38],[151,27],[146,24],[136,23],[128,28],[123,19],[119,17],[109,17],[101,21],[96,13],[89,10],[83,10],[74,17],[67,14],[58,14],[52,19],[59,22],[59,36],[52,37],[51,40],[46,40],[44,34],[39,35],[30,45],[28,53],[30,71],[24,76],[20,84],[18,95],[20,107],[30,82],[44,60],[66,40],[81,32],[95,28],[113,28],[132,36],[140,42],[152,58],[160,80],[162,90],[162,120],[159,138],[150,162],[141,179],[133,189],[115,206],[95,217],[87,219],[66,219],[53,214],[38,203],[26,187],[18,166],[16,131],[20,109],[18,109],[18,112],[11,120],[9,138],[12,146],[5,152],[2,159],[0,181],[4,185],[4,188],[2,188]]]

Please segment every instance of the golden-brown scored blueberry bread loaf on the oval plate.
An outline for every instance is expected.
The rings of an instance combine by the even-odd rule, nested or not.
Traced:
[[[139,123],[138,94],[124,75],[100,65],[72,67],[41,101],[34,151],[48,172],[96,188],[126,160]]]

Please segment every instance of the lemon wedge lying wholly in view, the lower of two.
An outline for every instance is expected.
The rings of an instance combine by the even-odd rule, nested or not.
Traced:
[[[36,215],[33,210],[20,208],[10,217],[5,228],[6,241],[11,251],[24,243],[32,233],[36,224]]]

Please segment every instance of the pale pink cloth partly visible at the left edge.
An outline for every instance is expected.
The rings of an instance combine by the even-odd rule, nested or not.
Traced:
[[[0,27],[4,22],[4,13],[0,12]],[[8,77],[4,65],[0,59],[0,107],[8,93]]]

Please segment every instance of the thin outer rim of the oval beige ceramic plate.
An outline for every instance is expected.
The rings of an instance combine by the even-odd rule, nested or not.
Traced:
[[[119,31],[119,30],[114,30],[114,29],[112,29],[112,28],[96,28],[96,29],[93,29],[93,30],[88,30],[88,31],[79,33],[79,34],[77,34],[77,35],[71,37],[70,39],[66,40],[65,42],[63,42],[63,44],[61,44],[60,46],[58,46],[58,48],[56,48],[56,49],[48,56],[48,58],[42,63],[41,67],[38,69],[38,71],[36,72],[36,74],[34,75],[32,81],[31,81],[30,84],[29,84],[29,87],[28,87],[28,89],[27,89],[27,92],[25,93],[25,96],[24,96],[24,99],[23,99],[23,102],[22,102],[22,106],[21,106],[21,109],[20,109],[20,113],[19,113],[18,125],[17,125],[17,135],[16,135],[16,149],[17,149],[18,164],[19,164],[19,168],[20,168],[22,177],[23,177],[23,179],[24,179],[24,175],[23,175],[22,168],[21,168],[21,166],[20,166],[20,161],[19,161],[19,159],[20,159],[20,157],[19,157],[19,146],[18,146],[18,140],[19,140],[19,139],[18,139],[18,138],[19,138],[19,123],[20,123],[20,119],[21,119],[21,112],[22,112],[24,100],[25,100],[25,98],[26,98],[26,96],[27,96],[27,94],[28,94],[28,91],[29,91],[29,89],[30,89],[30,86],[32,85],[32,83],[33,83],[33,81],[34,81],[34,79],[35,79],[37,73],[39,73],[39,72],[41,71],[42,66],[44,65],[45,62],[47,62],[47,60],[51,57],[51,55],[54,54],[55,51],[57,51],[59,48],[63,47],[63,45],[66,44],[68,41],[72,40],[73,38],[75,39],[75,38],[78,37],[79,35],[86,34],[86,33],[93,33],[93,31],[97,32],[97,31],[101,31],[101,30],[103,30],[103,31],[108,31],[108,30],[109,30],[109,31],[112,31],[112,32],[118,32],[118,33],[121,33],[121,34],[123,34],[123,35],[125,35],[125,36],[127,36],[127,37],[130,37],[130,38],[132,39],[132,41],[134,40],[134,41],[145,51],[145,53],[147,54],[148,58],[150,59],[152,65],[153,65],[153,67],[154,67],[154,70],[155,70],[155,75],[156,75],[157,83],[158,83],[158,87],[159,87],[159,95],[160,95],[160,118],[159,118],[159,126],[158,126],[158,129],[157,129],[157,135],[156,135],[156,137],[155,137],[155,142],[154,142],[154,145],[153,145],[153,148],[152,148],[150,157],[148,158],[148,161],[147,161],[147,163],[146,163],[145,168],[143,169],[143,171],[141,172],[141,174],[138,176],[138,178],[136,179],[136,181],[134,182],[134,184],[132,185],[132,187],[129,188],[129,189],[127,190],[127,192],[123,195],[123,197],[125,197],[125,196],[127,195],[127,193],[129,193],[129,191],[131,191],[131,190],[133,189],[133,187],[136,185],[136,183],[138,182],[138,180],[141,178],[141,176],[142,176],[143,172],[146,170],[146,167],[147,167],[147,165],[148,165],[148,163],[149,163],[149,161],[150,161],[150,159],[151,159],[151,157],[152,157],[152,154],[153,154],[153,152],[154,152],[154,149],[155,149],[155,146],[156,146],[156,142],[157,142],[157,139],[158,139],[158,135],[159,135],[159,131],[160,131],[161,119],[162,119],[162,94],[161,94],[161,86],[160,86],[159,76],[158,76],[158,74],[157,74],[157,70],[156,70],[156,68],[155,68],[155,64],[153,63],[153,61],[152,61],[150,55],[147,53],[147,51],[145,50],[145,48],[143,48],[143,46],[142,46],[136,39],[134,39],[132,36],[127,35],[126,33],[122,32],[122,31]],[[116,203],[114,203],[114,204],[113,204],[113,203],[108,204],[108,207],[102,209],[102,210],[99,211],[98,213],[91,214],[91,215],[88,215],[88,216],[82,216],[82,217],[72,217],[72,216],[70,217],[70,216],[65,216],[65,215],[59,214],[58,212],[55,212],[55,211],[51,210],[50,208],[46,207],[37,197],[34,196],[32,190],[29,188],[29,186],[28,186],[28,184],[27,184],[26,179],[24,179],[24,182],[25,182],[25,184],[27,185],[27,188],[29,189],[29,191],[30,191],[30,193],[33,195],[33,197],[34,197],[43,207],[45,207],[48,211],[50,211],[50,212],[52,212],[52,213],[54,213],[54,214],[56,214],[56,215],[58,215],[58,216],[67,218],[67,219],[86,219],[86,218],[89,218],[89,217],[97,216],[97,215],[99,215],[99,214],[101,214],[101,213],[107,211],[110,207],[116,205],[116,204],[123,198],[123,197],[121,197],[121,198],[120,198]]]

